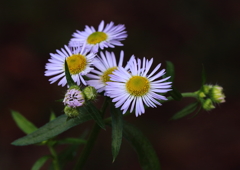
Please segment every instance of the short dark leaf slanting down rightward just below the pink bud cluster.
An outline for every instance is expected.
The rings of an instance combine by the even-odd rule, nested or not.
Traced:
[[[92,102],[88,102],[88,104],[86,104],[85,109],[92,116],[93,120],[96,121],[98,126],[100,126],[102,129],[106,130],[102,115],[101,115],[100,111],[92,104]]]

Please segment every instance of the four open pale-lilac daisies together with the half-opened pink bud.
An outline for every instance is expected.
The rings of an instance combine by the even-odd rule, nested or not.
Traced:
[[[120,52],[119,60],[113,52],[99,51],[104,48],[122,46],[120,42],[127,37],[124,25],[110,22],[104,27],[100,23],[97,31],[86,26],[84,31],[76,31],[68,46],[50,54],[46,64],[45,76],[53,76],[51,83],[58,80],[58,85],[67,84],[65,76],[65,60],[73,81],[78,85],[94,87],[98,93],[112,98],[115,107],[123,114],[135,110],[135,115],[145,112],[145,106],[156,107],[161,100],[167,100],[162,94],[171,90],[170,77],[162,78],[165,70],[159,70],[158,64],[152,71],[153,59],[139,59],[132,55],[126,65],[124,52]],[[99,54],[98,54],[99,53]],[[87,79],[86,79],[87,78]],[[70,108],[81,106],[84,101],[76,89],[67,92],[64,104]]]

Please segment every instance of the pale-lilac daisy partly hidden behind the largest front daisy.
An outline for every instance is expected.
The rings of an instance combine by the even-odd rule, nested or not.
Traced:
[[[95,87],[98,93],[101,93],[105,90],[106,83],[110,80],[110,74],[118,67],[122,67],[124,58],[124,52],[120,52],[120,59],[117,64],[115,54],[113,52],[106,51],[105,54],[103,52],[100,53],[100,57],[96,57],[94,59],[94,66],[96,70],[92,70],[91,73],[87,74],[91,80],[87,81],[89,86]],[[93,74],[92,74],[93,73]]]

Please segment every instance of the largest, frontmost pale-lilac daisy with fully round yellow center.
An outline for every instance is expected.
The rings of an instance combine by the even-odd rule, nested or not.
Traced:
[[[111,81],[107,82],[106,95],[113,98],[112,101],[116,102],[115,107],[121,107],[123,114],[128,108],[130,112],[135,109],[137,117],[145,112],[144,104],[148,107],[156,107],[161,105],[159,100],[167,100],[159,93],[171,90],[171,82],[164,82],[170,77],[161,79],[165,74],[164,69],[157,72],[161,64],[148,74],[152,63],[153,59],[149,61],[143,58],[141,63],[140,59],[133,58],[129,64],[129,71],[119,67],[110,75]]]

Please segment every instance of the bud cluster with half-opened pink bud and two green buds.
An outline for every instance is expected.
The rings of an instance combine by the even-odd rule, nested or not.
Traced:
[[[92,86],[85,87],[82,91],[79,86],[71,86],[64,97],[64,112],[68,117],[77,117],[79,115],[78,108],[83,106],[86,101],[94,100],[97,96],[96,89]]]

